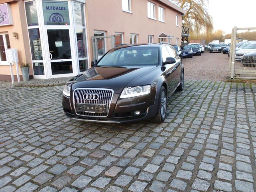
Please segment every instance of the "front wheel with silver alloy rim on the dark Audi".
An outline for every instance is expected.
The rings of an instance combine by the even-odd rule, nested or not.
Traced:
[[[156,116],[154,116],[154,118],[152,118],[152,122],[154,122],[154,123],[164,122],[164,119],[166,118],[166,109],[167,109],[166,90],[162,86],[160,89],[160,92],[159,92],[159,100],[158,100]]]

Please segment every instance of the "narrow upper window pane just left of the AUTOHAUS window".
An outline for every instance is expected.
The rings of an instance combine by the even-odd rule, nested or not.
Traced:
[[[25,2],[28,26],[38,25],[36,1]]]

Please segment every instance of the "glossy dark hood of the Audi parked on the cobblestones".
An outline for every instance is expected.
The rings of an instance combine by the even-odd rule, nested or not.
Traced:
[[[96,66],[72,79],[72,89],[75,88],[110,88],[120,93],[123,88],[136,78],[157,66]]]

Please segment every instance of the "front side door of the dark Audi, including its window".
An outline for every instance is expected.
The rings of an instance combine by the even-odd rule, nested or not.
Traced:
[[[163,62],[166,61],[166,58],[170,57],[170,54],[166,48],[166,46],[162,46],[162,60]],[[174,89],[174,72],[175,72],[175,64],[166,64],[165,65],[165,78],[168,83],[168,96],[172,93],[172,90]]]

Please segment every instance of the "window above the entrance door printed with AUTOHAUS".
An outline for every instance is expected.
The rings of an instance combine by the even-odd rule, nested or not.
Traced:
[[[42,1],[45,25],[70,25],[68,2]]]

